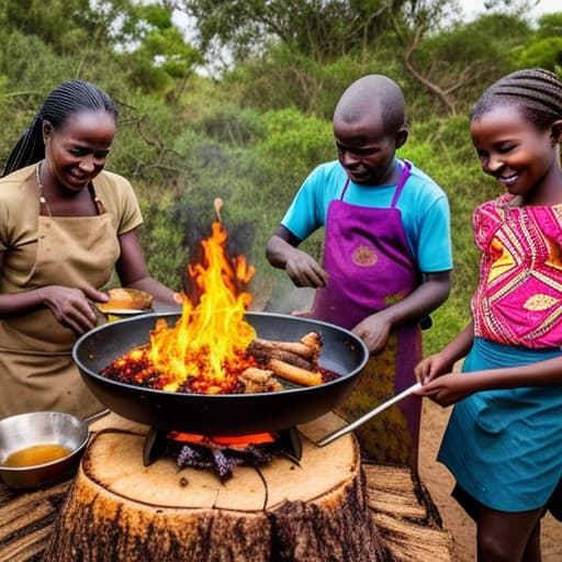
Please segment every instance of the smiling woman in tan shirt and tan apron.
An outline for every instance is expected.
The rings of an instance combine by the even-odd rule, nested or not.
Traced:
[[[0,179],[0,417],[102,406],[71,358],[93,328],[92,302],[115,270],[121,284],[175,303],[147,270],[143,218],[127,180],[103,171],[117,110],[95,86],[70,80],[45,99]]]

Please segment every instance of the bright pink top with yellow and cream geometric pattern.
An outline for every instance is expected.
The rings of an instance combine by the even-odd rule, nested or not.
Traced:
[[[475,336],[527,348],[562,344],[562,205],[518,206],[505,194],[480,205],[482,251],[472,301]]]

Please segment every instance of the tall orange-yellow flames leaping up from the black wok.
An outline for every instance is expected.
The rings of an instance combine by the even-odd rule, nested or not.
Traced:
[[[237,383],[237,373],[251,363],[246,348],[256,337],[244,319],[251,294],[244,288],[255,269],[244,256],[229,258],[227,234],[220,221],[212,223],[211,236],[201,243],[201,262],[188,266],[199,299],[182,293],[182,313],[173,327],[158,319],[150,331],[146,352],[150,367],[162,379],[162,390],[177,391],[189,382],[192,392],[224,393]],[[140,357],[137,357],[137,361]]]

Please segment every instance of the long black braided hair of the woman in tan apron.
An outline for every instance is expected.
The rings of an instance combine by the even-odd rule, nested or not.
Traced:
[[[98,87],[82,80],[68,80],[55,88],[45,99],[38,113],[22,133],[8,156],[2,176],[35,164],[45,157],[43,122],[53,130],[60,128],[70,115],[81,111],[104,110],[117,119],[115,102]]]

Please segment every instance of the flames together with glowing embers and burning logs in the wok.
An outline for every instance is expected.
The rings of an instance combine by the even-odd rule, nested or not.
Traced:
[[[337,376],[318,364],[322,337],[317,331],[299,341],[257,337],[245,319],[251,304],[245,288],[255,269],[244,256],[227,255],[221,221],[212,223],[211,231],[201,243],[200,261],[187,268],[190,281],[184,283],[182,313],[175,326],[157,318],[147,344],[115,359],[100,374],[195,394],[276,392],[284,384],[313,386]]]

